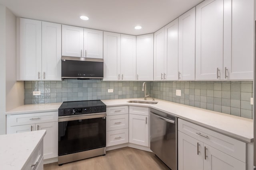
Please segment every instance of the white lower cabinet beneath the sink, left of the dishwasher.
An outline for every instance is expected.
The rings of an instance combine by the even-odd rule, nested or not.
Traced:
[[[148,107],[129,107],[129,143],[149,147]]]

